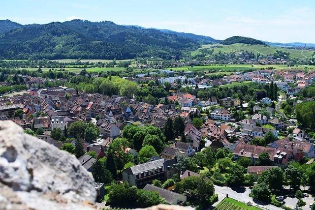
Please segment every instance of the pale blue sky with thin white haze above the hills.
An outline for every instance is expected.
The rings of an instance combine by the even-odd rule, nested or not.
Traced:
[[[225,39],[315,43],[314,0],[1,0],[0,20],[21,24],[84,19]]]

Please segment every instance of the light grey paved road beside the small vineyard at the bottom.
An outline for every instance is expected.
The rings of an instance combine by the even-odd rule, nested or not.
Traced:
[[[216,202],[213,206],[216,206],[219,204],[225,197],[226,194],[230,198],[233,198],[237,201],[247,203],[249,201],[252,202],[254,206],[259,206],[261,209],[267,209],[267,210],[282,210],[281,208],[275,207],[273,205],[262,205],[255,203],[252,198],[250,197],[251,189],[249,187],[243,187],[243,188],[237,188],[237,189],[231,189],[230,187],[221,187],[221,186],[215,186],[216,193],[219,195],[219,201]]]

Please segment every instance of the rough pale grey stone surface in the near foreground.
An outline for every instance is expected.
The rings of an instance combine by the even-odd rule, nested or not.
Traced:
[[[95,197],[75,156],[0,121],[0,210],[90,210]]]

